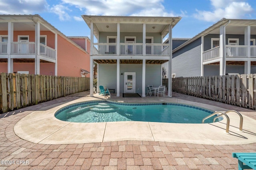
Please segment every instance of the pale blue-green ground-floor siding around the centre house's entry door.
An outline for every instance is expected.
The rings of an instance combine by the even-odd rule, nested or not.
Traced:
[[[99,86],[116,89],[116,64],[98,66]],[[120,93],[124,93],[124,72],[136,72],[136,93],[142,93],[142,64],[120,64]],[[160,86],[160,75],[160,64],[146,64],[146,85]]]

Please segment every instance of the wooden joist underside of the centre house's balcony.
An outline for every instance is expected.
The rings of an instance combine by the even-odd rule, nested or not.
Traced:
[[[116,64],[116,60],[94,60],[98,64]],[[120,64],[142,64],[143,60],[120,60]],[[146,64],[164,64],[168,60],[146,60]]]

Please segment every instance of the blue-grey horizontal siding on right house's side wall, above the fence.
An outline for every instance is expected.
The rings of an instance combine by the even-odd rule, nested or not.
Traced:
[[[172,59],[172,74],[176,77],[201,76],[201,45]]]

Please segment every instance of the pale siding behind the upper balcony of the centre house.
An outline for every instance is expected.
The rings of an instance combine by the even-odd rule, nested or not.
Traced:
[[[107,43],[108,36],[117,36],[115,32],[100,32],[99,43]],[[125,37],[136,37],[136,43],[143,43],[142,33],[125,33],[120,32],[120,43],[125,42]],[[153,37],[153,43],[162,43],[160,33],[146,33],[146,37]]]

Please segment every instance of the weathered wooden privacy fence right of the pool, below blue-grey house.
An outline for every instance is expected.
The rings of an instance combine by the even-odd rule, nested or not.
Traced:
[[[172,91],[256,108],[256,74],[172,78]]]

